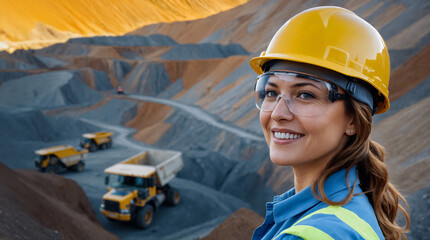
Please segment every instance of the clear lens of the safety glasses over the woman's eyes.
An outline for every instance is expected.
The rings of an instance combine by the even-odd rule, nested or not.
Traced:
[[[288,73],[266,72],[257,78],[255,101],[261,111],[270,112],[280,100],[298,116],[318,116],[330,104],[329,83],[312,76]]]

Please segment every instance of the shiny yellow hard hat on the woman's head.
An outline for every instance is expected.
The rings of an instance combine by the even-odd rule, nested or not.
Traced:
[[[249,63],[257,74],[262,74],[264,64],[272,60],[312,65],[348,76],[351,81],[340,87],[353,98],[368,104],[376,113],[390,107],[387,46],[374,27],[347,9],[316,7],[292,17],[278,30],[267,50]],[[356,89],[368,89],[364,95],[370,94],[373,99],[365,99]]]

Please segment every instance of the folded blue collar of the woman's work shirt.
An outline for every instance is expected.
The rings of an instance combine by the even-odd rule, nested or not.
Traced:
[[[342,169],[331,176],[329,176],[324,183],[324,191],[327,197],[331,197],[336,193],[341,192],[342,190],[348,189],[345,183],[345,173],[346,169]],[[356,189],[354,193],[361,192],[360,187],[360,179],[358,179],[357,171],[355,166],[351,168],[348,173],[348,184],[350,187],[354,185],[354,181],[357,180]],[[336,199],[331,199],[334,201],[340,201],[346,197],[348,191],[340,194],[340,196],[336,195]],[[340,197],[340,198],[339,198]],[[299,193],[295,194],[295,189],[292,188],[286,193],[274,197],[273,201],[273,216],[276,223],[280,223],[285,221],[288,218],[291,218],[301,212],[308,210],[309,208],[315,206],[320,201],[316,199],[312,193],[311,186],[303,189]]]

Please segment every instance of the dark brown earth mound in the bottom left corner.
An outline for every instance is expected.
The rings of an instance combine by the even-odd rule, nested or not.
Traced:
[[[118,239],[97,221],[75,181],[0,163],[0,182],[1,238]]]

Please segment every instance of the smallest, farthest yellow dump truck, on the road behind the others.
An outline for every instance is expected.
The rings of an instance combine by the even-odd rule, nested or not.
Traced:
[[[112,147],[113,132],[95,132],[82,134],[80,146],[95,152],[97,149],[106,149]]]

